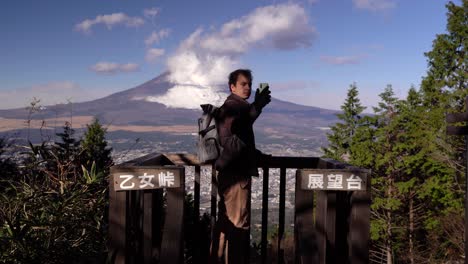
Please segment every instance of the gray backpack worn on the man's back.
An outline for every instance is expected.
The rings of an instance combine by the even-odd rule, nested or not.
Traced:
[[[198,160],[200,164],[211,164],[221,155],[216,116],[219,108],[210,104],[200,105],[203,114],[198,119]]]

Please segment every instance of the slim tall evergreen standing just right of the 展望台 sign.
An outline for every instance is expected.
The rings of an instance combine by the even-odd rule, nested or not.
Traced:
[[[395,170],[397,155],[394,149],[398,132],[392,129],[393,122],[399,114],[398,99],[395,97],[391,85],[387,85],[380,95],[381,101],[378,107],[374,107],[376,118],[375,127],[375,163],[372,169],[372,186],[374,192],[371,208],[371,236],[377,240],[377,244],[384,249],[387,263],[394,263],[399,215],[402,203],[396,189],[396,182],[400,172]]]

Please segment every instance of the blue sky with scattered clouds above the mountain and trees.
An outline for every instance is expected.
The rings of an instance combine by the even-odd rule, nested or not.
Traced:
[[[235,67],[251,68],[254,86],[269,82],[279,99],[339,109],[356,82],[361,101],[372,106],[387,84],[400,97],[419,86],[424,52],[445,32],[446,3],[3,1],[0,109],[24,107],[33,96],[43,104],[94,99],[167,69],[177,73],[173,80],[193,86],[174,87],[155,101],[181,100],[168,106],[184,107],[179,98],[191,93],[218,100],[210,85]],[[199,60],[184,68],[185,50]],[[200,87],[205,90],[195,90]]]

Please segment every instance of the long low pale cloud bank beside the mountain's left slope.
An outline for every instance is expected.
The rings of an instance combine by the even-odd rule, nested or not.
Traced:
[[[11,90],[0,90],[1,109],[26,107],[33,98],[40,101],[40,105],[54,105],[60,103],[83,102],[100,98],[112,93],[108,88],[83,88],[72,81],[52,81],[29,87]]]

